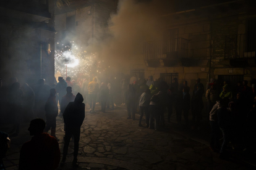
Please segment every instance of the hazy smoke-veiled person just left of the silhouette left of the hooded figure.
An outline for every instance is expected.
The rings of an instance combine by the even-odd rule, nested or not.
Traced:
[[[36,117],[45,119],[45,103],[49,97],[51,87],[45,84],[45,79],[39,79],[35,89]]]

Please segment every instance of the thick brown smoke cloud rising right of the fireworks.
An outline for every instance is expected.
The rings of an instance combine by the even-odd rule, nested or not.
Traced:
[[[109,37],[101,46],[101,59],[119,71],[129,70],[130,61],[143,59],[143,42],[163,39],[164,14],[173,12],[172,1],[119,1],[109,19]]]

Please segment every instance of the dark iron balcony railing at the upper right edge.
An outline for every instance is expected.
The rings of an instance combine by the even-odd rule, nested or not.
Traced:
[[[225,38],[225,59],[254,58],[256,34],[236,34]]]

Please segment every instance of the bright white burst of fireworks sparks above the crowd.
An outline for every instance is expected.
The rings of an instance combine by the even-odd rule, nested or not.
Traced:
[[[67,66],[67,76],[90,75],[95,60],[95,55],[91,55],[87,51],[77,50],[77,47],[74,50],[55,51],[55,73],[59,71],[62,76],[66,76]]]

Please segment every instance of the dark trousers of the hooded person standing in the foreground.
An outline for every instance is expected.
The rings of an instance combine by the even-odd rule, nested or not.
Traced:
[[[65,132],[65,144],[63,148],[63,158],[67,156],[67,150],[69,148],[70,139],[74,136],[74,160],[77,159],[78,151],[79,151],[79,140],[80,140],[80,127],[75,129],[66,128]]]

